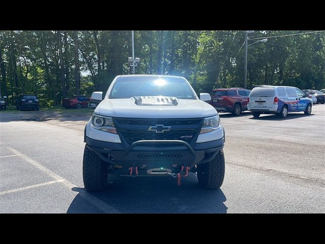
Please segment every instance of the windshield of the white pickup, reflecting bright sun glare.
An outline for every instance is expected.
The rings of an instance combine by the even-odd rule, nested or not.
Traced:
[[[109,98],[164,96],[179,99],[196,99],[187,82],[176,77],[119,77]]]

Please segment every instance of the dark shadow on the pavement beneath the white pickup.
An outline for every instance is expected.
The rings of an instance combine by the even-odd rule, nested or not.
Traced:
[[[180,187],[175,178],[167,176],[131,178],[112,175],[109,182],[105,191],[92,195],[122,213],[226,213],[228,209],[224,205],[223,192],[201,188],[194,173],[182,178]],[[87,206],[89,202],[79,193],[67,212],[94,212]]]

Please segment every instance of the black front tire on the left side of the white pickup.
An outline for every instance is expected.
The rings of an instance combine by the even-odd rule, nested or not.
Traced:
[[[88,192],[102,191],[107,186],[107,164],[85,146],[83,152],[83,184]]]

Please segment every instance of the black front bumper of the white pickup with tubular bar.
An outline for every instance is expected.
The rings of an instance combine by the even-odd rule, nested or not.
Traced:
[[[179,172],[182,165],[193,168],[211,161],[223,148],[225,138],[197,143],[192,148],[179,140],[136,141],[127,149],[121,143],[99,141],[85,136],[86,146],[114,168],[137,166],[141,169],[168,168]],[[146,171],[145,171],[146,172]]]

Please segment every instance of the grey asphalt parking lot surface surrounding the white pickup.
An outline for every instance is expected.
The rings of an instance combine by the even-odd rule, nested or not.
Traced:
[[[0,112],[1,213],[300,213],[325,212],[325,104],[310,116],[253,118],[221,113],[226,133],[220,190],[196,174],[109,177],[104,192],[85,192],[84,126],[91,111]]]

